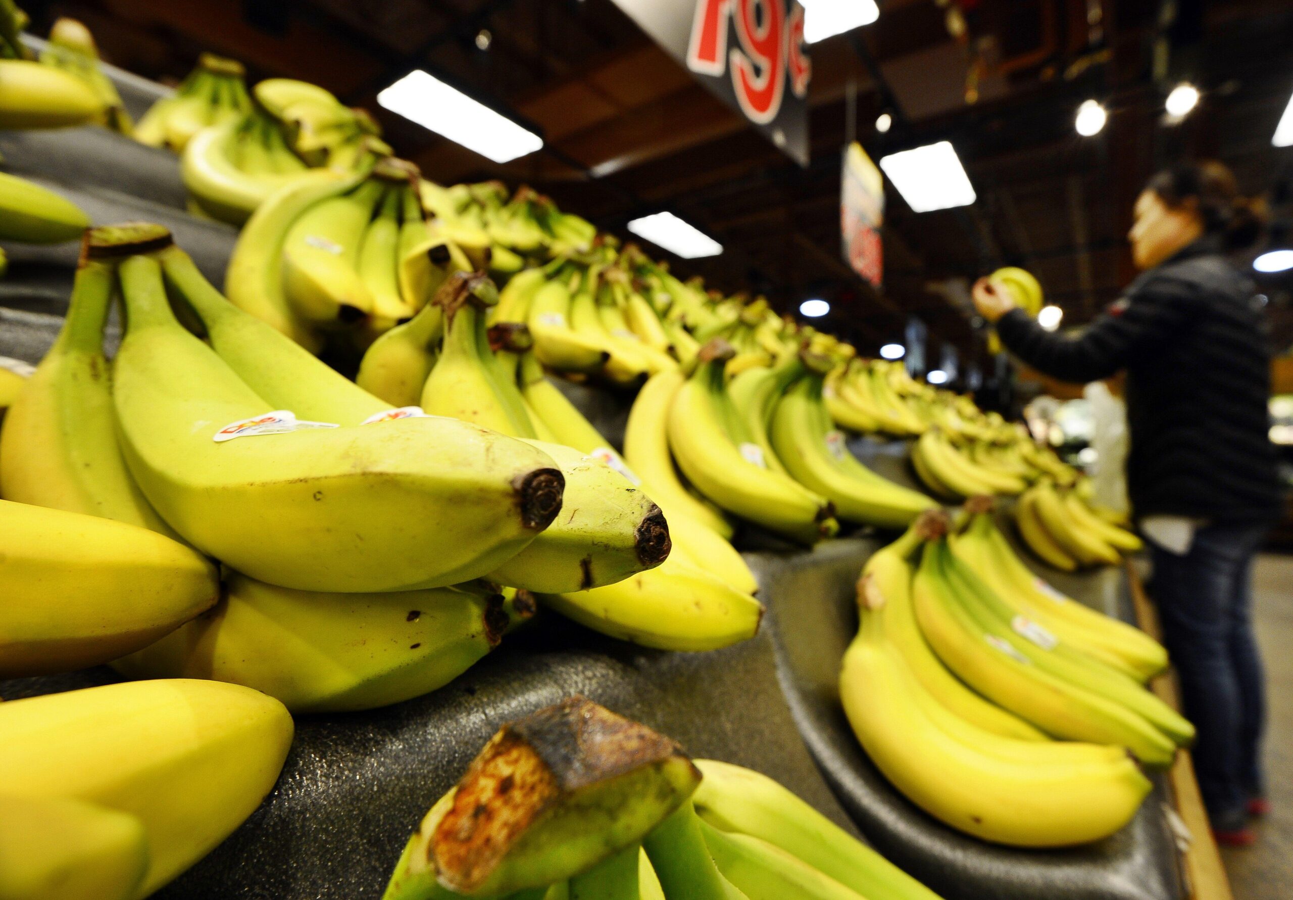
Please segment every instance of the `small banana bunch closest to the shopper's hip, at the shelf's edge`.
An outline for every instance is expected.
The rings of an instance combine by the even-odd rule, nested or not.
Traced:
[[[1078,486],[1060,488],[1049,476],[1015,503],[1015,528],[1038,559],[1064,572],[1117,565],[1122,553],[1134,553],[1143,546],[1139,537],[1087,506]]]

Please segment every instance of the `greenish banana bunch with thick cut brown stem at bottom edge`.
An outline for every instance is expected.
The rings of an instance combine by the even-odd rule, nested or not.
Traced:
[[[937,900],[772,778],[693,762],[583,697],[503,725],[423,819],[383,896],[482,895]]]

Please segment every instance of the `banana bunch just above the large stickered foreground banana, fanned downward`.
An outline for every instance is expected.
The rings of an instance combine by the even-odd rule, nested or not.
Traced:
[[[296,343],[367,347],[423,309],[472,262],[420,202],[416,167],[291,176],[247,221],[225,275],[229,299]]]

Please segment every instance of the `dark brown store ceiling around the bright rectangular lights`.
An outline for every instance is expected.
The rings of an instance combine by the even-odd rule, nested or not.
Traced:
[[[875,25],[812,47],[806,168],[696,84],[610,0],[22,5],[37,34],[58,14],[81,18],[106,58],[151,78],[178,79],[209,49],[243,59],[253,76],[308,79],[379,111],[380,88],[427,67],[529,120],[547,144],[497,166],[379,111],[397,151],[428,177],[524,181],[621,233],[636,215],[674,209],[724,246],[718,257],[672,260],[675,272],[767,294],[784,312],[825,297],[822,327],[869,353],[900,338],[914,314],[935,352],[948,343],[962,359],[983,361],[967,283],[1005,264],[1033,270],[1065,323],[1090,319],[1134,274],[1124,241],[1130,209],[1166,160],[1221,158],[1253,193],[1293,177],[1293,150],[1270,146],[1293,93],[1288,0],[1174,0],[1166,27],[1160,3],[1148,0],[882,0]],[[949,10],[966,26],[961,40]],[[482,30],[487,49],[478,47]],[[1162,98],[1181,79],[1204,100],[1169,125]],[[1073,129],[1087,97],[1109,109],[1095,138]],[[895,125],[879,134],[873,123],[886,110]],[[890,189],[882,291],[839,252],[850,134],[877,159],[948,138],[979,195],[971,207],[917,215]],[[1289,287],[1268,288],[1284,345],[1293,341]]]

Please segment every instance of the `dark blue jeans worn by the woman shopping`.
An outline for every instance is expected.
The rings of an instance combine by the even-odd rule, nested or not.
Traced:
[[[1253,636],[1252,564],[1266,524],[1214,524],[1184,556],[1149,542],[1151,594],[1181,680],[1186,716],[1199,736],[1195,773],[1213,828],[1246,822],[1263,789],[1261,740],[1266,684]]]

